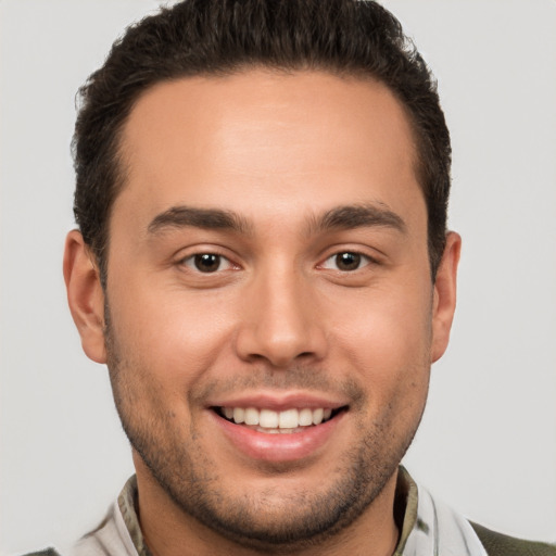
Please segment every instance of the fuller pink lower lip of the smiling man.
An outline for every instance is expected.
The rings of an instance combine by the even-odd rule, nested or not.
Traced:
[[[236,425],[211,410],[224,434],[240,452],[252,459],[275,463],[295,462],[314,455],[330,440],[344,413],[301,432],[273,434]]]

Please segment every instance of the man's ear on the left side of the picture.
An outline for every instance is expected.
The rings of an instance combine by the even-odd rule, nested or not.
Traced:
[[[106,363],[104,292],[94,256],[77,230],[71,231],[65,240],[64,280],[85,353],[97,363]]]

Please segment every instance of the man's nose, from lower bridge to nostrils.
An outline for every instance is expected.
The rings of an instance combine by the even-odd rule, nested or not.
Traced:
[[[323,359],[324,315],[308,281],[293,271],[254,279],[245,292],[236,340],[241,359],[280,368],[299,359]]]

